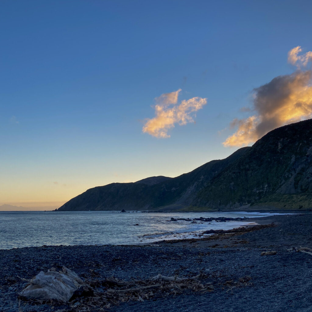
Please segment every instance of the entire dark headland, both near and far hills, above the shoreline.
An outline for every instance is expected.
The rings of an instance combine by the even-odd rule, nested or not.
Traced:
[[[90,188],[58,211],[269,210],[312,207],[312,119],[272,130],[251,147],[176,178]]]

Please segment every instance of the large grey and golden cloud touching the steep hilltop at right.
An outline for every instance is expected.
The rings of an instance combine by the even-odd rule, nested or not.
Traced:
[[[291,64],[301,62],[300,67],[306,66],[312,52],[298,56],[300,51],[300,46],[292,49],[288,60]],[[223,142],[224,146],[246,146],[277,127],[312,117],[312,71],[300,67],[290,75],[275,77],[254,89],[256,114],[234,119],[230,126],[237,127],[237,131]]]

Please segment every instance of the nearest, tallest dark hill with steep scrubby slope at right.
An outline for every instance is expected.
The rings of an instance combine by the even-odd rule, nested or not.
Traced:
[[[290,197],[285,194],[294,194],[293,200],[306,194],[305,201],[310,201],[310,193],[312,195],[312,119],[266,134],[230,168],[216,175],[197,194],[193,205],[225,208],[267,202],[286,208]],[[312,207],[312,202],[306,204]],[[298,207],[299,202],[292,208]]]

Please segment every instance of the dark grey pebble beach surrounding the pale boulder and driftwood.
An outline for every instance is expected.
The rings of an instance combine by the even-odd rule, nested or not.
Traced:
[[[311,212],[252,218],[256,230],[215,234],[189,240],[164,241],[133,246],[42,246],[0,250],[1,311],[311,311],[312,255],[288,251],[291,247],[312,247]],[[261,256],[261,252],[276,255]],[[183,289],[109,307],[91,306],[90,298],[68,304],[19,300],[19,292],[40,271],[66,266],[97,296],[105,287],[95,281],[147,280],[157,274],[181,278],[200,275],[202,284],[213,291],[200,293]]]

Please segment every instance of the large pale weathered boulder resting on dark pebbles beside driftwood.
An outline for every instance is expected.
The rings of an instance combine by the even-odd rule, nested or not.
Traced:
[[[86,295],[92,292],[79,276],[63,266],[62,271],[53,271],[51,268],[48,272],[41,271],[30,281],[20,295],[26,298],[37,300],[57,300],[67,302],[71,297]]]

